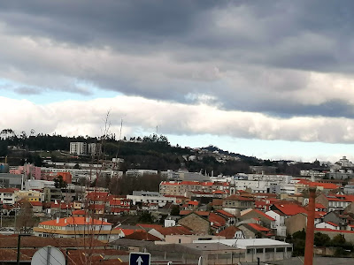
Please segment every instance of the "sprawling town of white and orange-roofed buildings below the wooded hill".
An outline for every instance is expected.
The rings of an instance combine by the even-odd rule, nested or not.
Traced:
[[[93,155],[97,147],[101,145],[72,142],[68,155]],[[197,161],[198,154],[217,157],[219,163],[235,159],[203,148],[184,159]],[[18,219],[3,226],[0,234],[10,237],[25,232],[44,239],[92,237],[111,251],[146,249],[155,253],[155,261],[187,262],[186,252],[194,261],[203,256],[209,264],[233,264],[231,256],[240,262],[288,260],[296,254],[289,236],[306,231],[308,190],[316,187],[315,231],[354,243],[354,164],[345,156],[326,167],[315,162],[312,169],[300,170],[296,176],[276,173],[273,165],[250,166],[250,173],[214,176],[213,172],[185,169],[123,171],[119,163],[124,159],[75,163],[46,157],[41,167],[2,163],[1,220]],[[156,191],[119,195],[108,186],[92,186],[98,179],[157,177],[162,180]],[[26,218],[39,222],[19,222],[26,211],[30,212]],[[122,221],[129,218],[135,221]],[[165,250],[158,253],[160,247]],[[168,257],[168,247],[176,255]],[[208,251],[199,253],[199,247]],[[124,262],[127,257],[119,259]]]

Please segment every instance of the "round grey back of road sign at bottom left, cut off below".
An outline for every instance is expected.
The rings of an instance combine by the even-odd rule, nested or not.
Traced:
[[[44,246],[32,257],[31,265],[64,265],[64,254],[54,246]]]

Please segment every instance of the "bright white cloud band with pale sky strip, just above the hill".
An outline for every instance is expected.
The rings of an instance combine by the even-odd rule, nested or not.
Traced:
[[[35,129],[63,135],[100,135],[110,111],[111,132],[205,134],[261,140],[299,140],[354,143],[354,120],[328,117],[268,117],[262,113],[226,111],[205,104],[158,102],[142,97],[117,96],[87,102],[63,101],[36,105],[26,100],[0,97],[4,114],[0,128]]]

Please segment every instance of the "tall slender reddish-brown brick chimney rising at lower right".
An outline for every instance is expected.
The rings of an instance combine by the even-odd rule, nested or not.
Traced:
[[[316,187],[310,187],[310,201],[307,208],[307,228],[306,228],[306,241],[304,247],[304,265],[313,264],[313,239],[315,232],[315,200],[316,200]]]

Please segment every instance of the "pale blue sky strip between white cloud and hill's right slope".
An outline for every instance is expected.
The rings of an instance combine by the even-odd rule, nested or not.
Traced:
[[[335,163],[342,155],[353,156],[354,144],[302,142],[287,140],[242,139],[211,134],[166,135],[171,144],[201,148],[209,145],[238,153],[271,160],[296,160],[303,162],[330,161]]]

